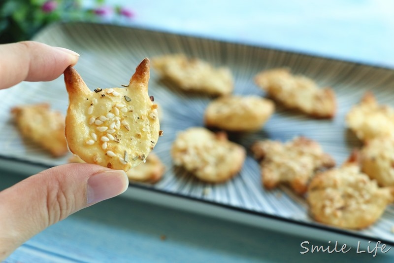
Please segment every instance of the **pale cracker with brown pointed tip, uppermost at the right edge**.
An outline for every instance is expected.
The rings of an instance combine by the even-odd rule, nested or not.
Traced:
[[[376,137],[392,137],[394,109],[379,105],[375,96],[366,92],[360,104],[355,105],[346,115],[346,123],[363,142]]]

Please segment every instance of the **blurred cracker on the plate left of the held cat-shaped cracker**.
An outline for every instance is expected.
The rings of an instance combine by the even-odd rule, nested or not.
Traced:
[[[65,117],[52,111],[46,103],[18,106],[11,114],[23,137],[48,150],[54,157],[68,152],[65,138]]]

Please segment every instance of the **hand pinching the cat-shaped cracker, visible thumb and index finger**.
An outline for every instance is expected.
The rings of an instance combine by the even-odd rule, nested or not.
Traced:
[[[71,50],[25,41],[0,45],[0,89],[23,80],[49,81],[75,65]],[[94,164],[60,165],[0,191],[0,261],[46,227],[124,192],[124,171]]]

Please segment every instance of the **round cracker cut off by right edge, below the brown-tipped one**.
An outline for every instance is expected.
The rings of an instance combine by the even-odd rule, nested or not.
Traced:
[[[361,149],[361,171],[379,186],[394,186],[394,138],[378,137]]]

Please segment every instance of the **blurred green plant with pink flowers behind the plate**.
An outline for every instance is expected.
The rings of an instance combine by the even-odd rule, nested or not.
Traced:
[[[28,40],[54,22],[108,22],[134,15],[128,8],[104,5],[105,0],[93,2],[94,8],[86,8],[82,0],[0,0],[0,43]]]

